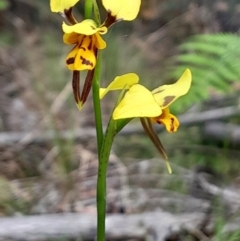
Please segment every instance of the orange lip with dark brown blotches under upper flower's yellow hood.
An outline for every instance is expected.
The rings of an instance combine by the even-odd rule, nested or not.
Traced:
[[[94,44],[93,36],[82,36],[81,45],[76,45],[67,56],[68,69],[78,71],[93,69],[96,65]]]

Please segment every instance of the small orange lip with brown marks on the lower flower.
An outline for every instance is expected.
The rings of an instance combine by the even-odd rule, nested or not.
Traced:
[[[163,109],[162,114],[158,117],[151,118],[153,122],[165,125],[168,132],[176,132],[180,123],[176,116],[170,113],[169,108]]]

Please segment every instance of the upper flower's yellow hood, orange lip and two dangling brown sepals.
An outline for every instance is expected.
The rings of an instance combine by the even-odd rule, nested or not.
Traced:
[[[86,19],[71,26],[63,22],[62,29],[64,32],[63,42],[75,45],[67,55],[66,64],[68,69],[73,71],[73,94],[77,107],[81,110],[91,90],[98,49],[106,48],[106,42],[101,35],[107,32],[107,28],[97,27],[93,20]],[[79,71],[82,70],[88,70],[88,73],[83,91],[80,93]]]

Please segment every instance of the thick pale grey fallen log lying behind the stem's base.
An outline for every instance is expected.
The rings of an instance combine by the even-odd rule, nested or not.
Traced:
[[[205,214],[191,213],[172,215],[153,212],[133,215],[111,215],[106,219],[107,239],[129,238],[145,239],[147,235],[154,240],[165,238],[180,230],[196,229]],[[52,214],[0,218],[0,240],[36,241],[50,238],[81,238],[94,240],[96,217],[86,214]]]

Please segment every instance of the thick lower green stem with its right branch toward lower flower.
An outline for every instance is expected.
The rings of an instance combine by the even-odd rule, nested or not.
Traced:
[[[105,241],[106,178],[111,147],[116,135],[115,123],[116,122],[111,119],[108,124],[99,158],[97,180],[97,241]]]

